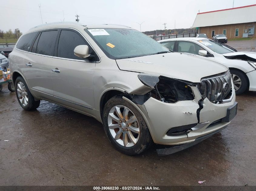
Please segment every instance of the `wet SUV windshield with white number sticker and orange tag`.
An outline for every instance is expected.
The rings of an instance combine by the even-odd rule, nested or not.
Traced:
[[[170,52],[165,46],[138,30],[105,28],[85,31],[111,59]]]

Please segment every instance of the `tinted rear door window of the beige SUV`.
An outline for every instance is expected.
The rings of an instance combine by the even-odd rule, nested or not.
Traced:
[[[39,37],[35,53],[53,56],[57,34],[58,30],[42,32]]]

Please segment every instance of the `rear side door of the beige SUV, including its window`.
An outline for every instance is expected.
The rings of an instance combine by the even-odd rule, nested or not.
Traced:
[[[32,93],[44,99],[53,96],[52,57],[58,30],[44,30],[38,33],[30,52],[24,59],[25,76]]]

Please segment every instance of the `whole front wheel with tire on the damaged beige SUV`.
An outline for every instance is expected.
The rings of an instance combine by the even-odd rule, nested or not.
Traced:
[[[124,154],[140,154],[152,143],[141,113],[122,96],[112,97],[105,104],[103,127],[108,140]]]

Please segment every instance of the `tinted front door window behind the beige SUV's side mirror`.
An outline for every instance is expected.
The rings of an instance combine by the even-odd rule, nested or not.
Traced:
[[[62,30],[60,33],[57,57],[68,58],[68,59],[77,59],[77,60],[88,60],[82,59],[74,54],[74,49],[78,45],[88,45],[84,38],[82,38],[78,33],[71,30]],[[93,50],[89,46],[89,54],[93,53]]]

